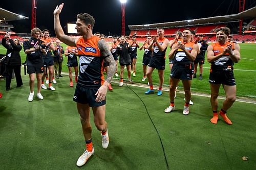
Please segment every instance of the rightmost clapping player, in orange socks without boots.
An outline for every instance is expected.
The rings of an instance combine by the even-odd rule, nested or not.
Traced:
[[[226,112],[233,105],[234,101],[236,101],[237,86],[233,74],[233,65],[241,59],[240,46],[237,43],[228,42],[229,28],[217,28],[215,33],[217,42],[210,44],[207,48],[207,61],[211,63],[209,75],[211,89],[210,103],[214,114],[210,122],[217,124],[219,119],[218,95],[222,84],[226,94],[226,100],[223,102],[219,114],[228,125],[232,125]]]

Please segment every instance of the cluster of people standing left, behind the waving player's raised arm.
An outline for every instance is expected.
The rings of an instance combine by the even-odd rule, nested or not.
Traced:
[[[49,38],[49,30],[45,29],[41,32],[39,28],[31,30],[32,37],[23,43],[24,52],[27,54],[26,64],[29,74],[30,94],[28,101],[32,102],[34,98],[34,81],[37,79],[37,98],[44,99],[40,93],[41,88],[47,89],[45,85],[49,84],[48,89],[54,91],[53,84],[56,84],[55,78],[62,77],[61,68],[63,62],[63,54],[68,57],[67,66],[69,67],[70,86],[73,87],[72,67],[75,70],[75,81],[78,80],[78,62],[77,49],[73,46],[67,46],[66,50],[60,45],[60,41],[56,40],[56,45]],[[55,69],[55,77],[53,69]],[[43,73],[43,74],[42,74]],[[35,76],[36,75],[36,76]]]

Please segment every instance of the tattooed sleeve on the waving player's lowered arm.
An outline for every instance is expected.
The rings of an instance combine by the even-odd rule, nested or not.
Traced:
[[[113,75],[115,74],[116,63],[113,55],[109,50],[108,44],[104,40],[98,41],[98,47],[99,47],[101,56],[105,57],[104,58],[105,62],[109,63],[109,69],[108,69],[108,72],[106,73],[106,81],[110,83]]]

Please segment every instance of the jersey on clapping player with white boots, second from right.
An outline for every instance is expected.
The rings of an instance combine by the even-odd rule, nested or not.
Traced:
[[[194,46],[194,42],[188,42],[188,43],[185,43],[185,49],[191,53],[191,51],[193,50],[193,46]],[[174,54],[174,65],[187,65],[187,64],[191,64],[191,60],[189,60],[186,56],[186,53],[181,50],[181,49],[178,49],[175,54]]]

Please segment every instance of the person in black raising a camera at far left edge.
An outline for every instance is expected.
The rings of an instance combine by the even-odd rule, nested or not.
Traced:
[[[17,38],[11,39],[8,32],[2,40],[2,44],[7,49],[4,63],[6,65],[6,90],[10,90],[13,70],[16,78],[16,87],[23,85],[22,76],[20,75],[22,59],[19,55],[19,52],[22,50],[22,46]]]

